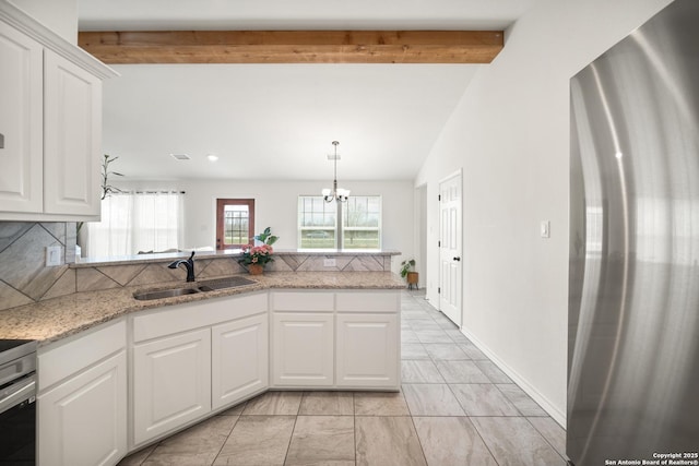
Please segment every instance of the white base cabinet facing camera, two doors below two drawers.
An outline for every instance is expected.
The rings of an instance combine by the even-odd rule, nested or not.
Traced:
[[[273,291],[271,307],[274,387],[400,389],[400,291]]]

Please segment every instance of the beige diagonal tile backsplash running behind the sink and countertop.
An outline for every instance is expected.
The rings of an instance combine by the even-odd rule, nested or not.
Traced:
[[[0,222],[0,311],[45,299],[120,286],[152,285],[185,278],[183,271],[167,262],[87,264],[75,262],[75,223]],[[61,265],[46,266],[46,248],[61,247]],[[330,259],[329,264],[325,260]],[[198,278],[245,273],[235,258],[202,258],[196,261]],[[270,272],[390,271],[391,254],[316,255],[280,253]]]

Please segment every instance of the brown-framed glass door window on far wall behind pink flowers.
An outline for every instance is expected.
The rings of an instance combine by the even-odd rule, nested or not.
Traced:
[[[216,200],[216,249],[242,248],[254,237],[254,200]]]

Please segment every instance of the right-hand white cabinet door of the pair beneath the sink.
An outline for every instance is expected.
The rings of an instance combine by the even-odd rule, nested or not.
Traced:
[[[211,334],[212,405],[220,408],[269,386],[268,315],[216,325]]]

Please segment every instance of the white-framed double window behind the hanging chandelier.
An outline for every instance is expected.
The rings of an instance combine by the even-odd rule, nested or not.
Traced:
[[[337,218],[342,219],[340,227]],[[346,203],[325,202],[320,195],[299,196],[298,247],[381,248],[381,196],[353,195]]]

